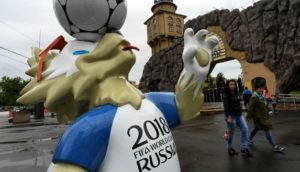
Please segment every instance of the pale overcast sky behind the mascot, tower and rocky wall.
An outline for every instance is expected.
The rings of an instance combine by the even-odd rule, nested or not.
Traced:
[[[256,0],[257,1],[257,0]],[[30,47],[38,47],[41,30],[41,45],[45,48],[58,35],[67,40],[73,39],[62,29],[56,20],[52,0],[1,0],[0,1],[0,47],[4,47],[25,56],[30,56]],[[128,15],[121,29],[124,37],[141,51],[136,52],[137,62],[130,72],[130,80],[138,81],[143,67],[151,56],[147,45],[144,22],[152,15],[154,0],[127,0]],[[254,0],[175,0],[177,12],[187,16],[185,21],[196,18],[213,9],[243,9],[253,4]],[[0,77],[21,76],[28,69],[26,59],[0,49]],[[212,73],[215,76],[223,72],[227,78],[236,78],[241,74],[240,64],[231,61],[218,64]]]

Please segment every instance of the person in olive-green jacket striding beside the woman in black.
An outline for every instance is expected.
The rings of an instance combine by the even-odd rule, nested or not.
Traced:
[[[265,105],[265,97],[263,96],[263,86],[256,85],[256,92],[253,93],[250,98],[248,115],[247,119],[253,119],[253,123],[255,128],[252,130],[249,138],[249,144],[254,145],[253,139],[256,133],[259,130],[265,131],[265,136],[270,144],[273,146],[274,151],[281,152],[284,150],[284,147],[280,147],[274,141],[271,129],[272,129],[272,121],[268,114],[267,107]]]

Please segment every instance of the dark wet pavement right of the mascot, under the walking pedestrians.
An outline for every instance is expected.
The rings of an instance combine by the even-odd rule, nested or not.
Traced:
[[[273,152],[263,132],[255,137],[250,150],[253,158],[227,155],[222,136],[223,115],[202,116],[175,130],[174,137],[183,172],[299,172],[300,170],[300,111],[281,112],[273,116],[273,135],[286,147],[283,154]],[[252,124],[249,126],[252,127]],[[235,148],[239,149],[239,133]]]

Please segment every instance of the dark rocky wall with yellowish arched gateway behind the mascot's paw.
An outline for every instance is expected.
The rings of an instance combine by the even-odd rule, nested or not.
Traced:
[[[155,5],[161,3],[155,2]],[[258,1],[242,11],[211,11],[187,21],[185,28],[195,32],[206,28],[221,38],[223,49],[213,52],[216,59],[212,69],[217,63],[236,59],[241,64],[245,86],[253,89],[254,82],[264,80],[271,94],[287,94],[300,88],[299,5],[300,1]],[[154,16],[146,24],[151,23]],[[183,67],[183,38],[157,53],[161,49],[157,41],[160,37],[148,36],[154,53],[145,65],[139,88],[143,92],[174,91]]]

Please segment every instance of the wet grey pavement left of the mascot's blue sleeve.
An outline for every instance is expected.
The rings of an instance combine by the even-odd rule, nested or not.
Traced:
[[[0,118],[0,171],[47,171],[65,127],[58,125],[54,118],[17,125]]]

